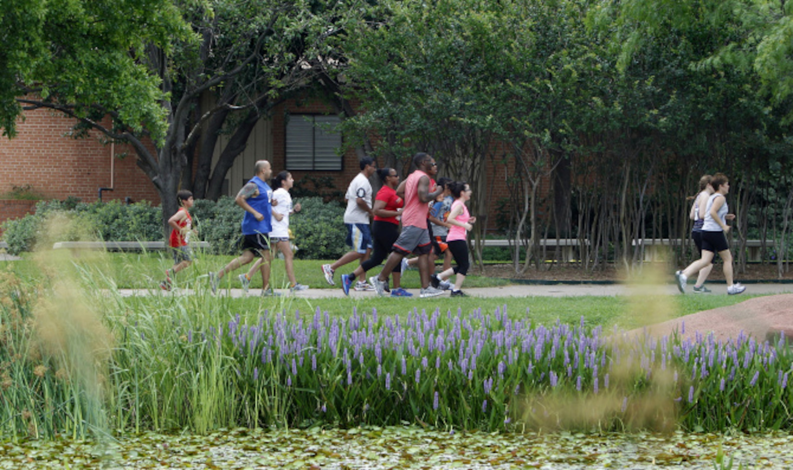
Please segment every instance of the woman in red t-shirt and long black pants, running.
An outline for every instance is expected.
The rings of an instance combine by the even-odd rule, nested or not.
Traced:
[[[393,168],[380,168],[377,176],[383,186],[377,191],[374,198],[374,222],[372,224],[372,256],[350,274],[342,275],[342,288],[344,293],[349,295],[350,287],[356,278],[366,279],[366,271],[380,266],[388,258],[394,242],[399,238],[399,216],[404,206],[404,201],[397,196],[397,186],[399,186],[399,174]],[[412,294],[400,287],[400,266],[393,270],[394,285],[391,289],[393,297],[409,297]]]

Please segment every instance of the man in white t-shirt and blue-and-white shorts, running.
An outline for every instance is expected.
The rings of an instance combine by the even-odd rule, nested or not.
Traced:
[[[347,263],[358,260],[359,262],[366,261],[372,250],[372,232],[370,231],[370,217],[374,216],[372,213],[372,185],[369,178],[377,170],[374,159],[371,157],[364,157],[360,161],[361,173],[358,173],[353,178],[350,186],[347,188],[347,210],[344,211],[344,225],[347,226],[347,245],[352,247],[352,250],[344,254],[341,258],[336,260],[332,265],[322,265],[322,273],[325,275],[325,281],[328,284],[335,285],[333,281],[333,273],[336,269]],[[355,285],[355,290],[374,290],[366,281],[358,281]]]

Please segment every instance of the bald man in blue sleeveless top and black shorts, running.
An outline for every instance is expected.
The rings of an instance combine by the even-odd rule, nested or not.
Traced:
[[[242,250],[242,254],[217,273],[209,273],[209,286],[213,293],[217,292],[220,279],[227,273],[247,265],[256,257],[260,257],[262,258],[262,264],[259,266],[262,272],[262,293],[273,295],[273,289],[269,285],[271,260],[269,234],[272,231],[270,217],[273,214],[270,200],[273,197],[273,189],[266,183],[270,179],[270,175],[273,174],[273,170],[270,168],[270,162],[259,160],[256,162],[255,172],[256,176],[251,178],[243,186],[243,189],[239,189],[235,199],[237,205],[245,209],[242,224],[243,235],[239,239],[239,248]]]

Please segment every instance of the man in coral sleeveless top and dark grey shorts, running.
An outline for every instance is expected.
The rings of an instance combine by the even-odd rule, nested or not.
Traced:
[[[421,292],[419,296],[434,297],[443,293],[439,288],[430,285],[429,254],[432,249],[430,234],[427,230],[427,203],[434,201],[443,188],[435,188],[430,193],[429,170],[436,166],[431,155],[419,152],[413,156],[416,170],[401,182],[397,188],[397,196],[404,199],[402,209],[402,232],[393,244],[393,251],[389,255],[385,267],[378,276],[370,277],[369,281],[377,289],[377,294],[385,295],[385,285],[389,274],[399,266],[402,258],[414,253],[419,257],[419,276],[421,277]]]

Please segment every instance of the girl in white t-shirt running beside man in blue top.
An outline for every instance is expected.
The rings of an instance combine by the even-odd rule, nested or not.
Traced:
[[[308,285],[298,284],[295,280],[294,254],[289,243],[289,216],[301,210],[299,202],[292,205],[292,196],[289,195],[289,189],[292,189],[294,183],[295,180],[288,171],[282,171],[273,178],[273,218],[271,220],[272,231],[270,231],[271,250],[281,250],[284,254],[286,277],[289,277],[289,290],[293,292],[308,288]],[[242,282],[246,291],[251,276],[259,269],[261,262],[261,259],[257,260],[247,274],[239,275],[239,281]]]

